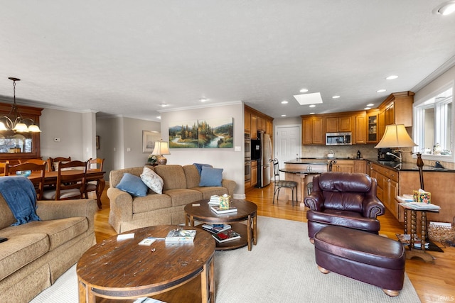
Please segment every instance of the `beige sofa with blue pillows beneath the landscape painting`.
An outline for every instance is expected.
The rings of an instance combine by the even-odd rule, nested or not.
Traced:
[[[235,181],[222,180],[221,187],[199,187],[200,175],[195,165],[158,165],[150,167],[164,181],[163,193],[149,190],[146,197],[132,197],[117,189],[124,173],[140,176],[144,167],[112,170],[107,197],[110,202],[109,224],[117,233],[134,228],[185,222],[183,208],[188,203],[210,199],[213,194],[234,194]]]

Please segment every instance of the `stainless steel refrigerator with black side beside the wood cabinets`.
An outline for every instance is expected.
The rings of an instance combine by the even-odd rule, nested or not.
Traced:
[[[272,157],[272,141],[267,133],[257,132],[257,140],[251,141],[252,159],[257,160],[257,185],[266,187],[270,184],[270,158]]]

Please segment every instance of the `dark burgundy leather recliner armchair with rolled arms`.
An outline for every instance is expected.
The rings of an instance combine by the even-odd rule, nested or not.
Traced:
[[[313,178],[313,192],[304,200],[309,207],[308,235],[325,226],[344,226],[378,234],[377,216],[384,204],[376,197],[376,179],[362,173],[323,172]]]

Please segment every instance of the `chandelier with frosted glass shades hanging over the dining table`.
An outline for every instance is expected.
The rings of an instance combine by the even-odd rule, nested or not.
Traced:
[[[22,118],[16,104],[16,81],[21,79],[9,77],[13,81],[14,101],[11,111],[6,116],[0,116],[0,131],[14,131],[16,133],[41,133],[40,128],[35,124],[35,121],[30,118]],[[27,126],[25,121],[30,121],[30,126]]]

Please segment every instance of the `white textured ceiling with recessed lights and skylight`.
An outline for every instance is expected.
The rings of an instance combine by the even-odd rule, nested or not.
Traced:
[[[444,0],[0,1],[0,99],[18,77],[18,104],[100,116],[159,121],[201,98],[274,118],[355,111],[455,65],[455,14],[432,12]],[[302,88],[323,103],[300,105]]]

